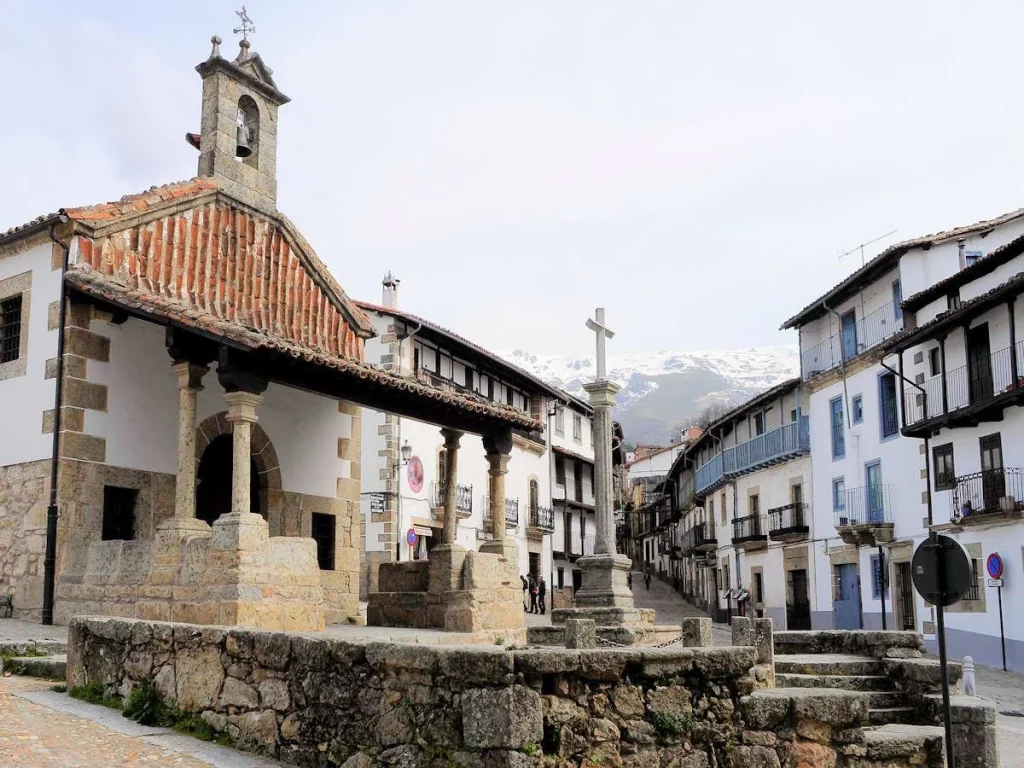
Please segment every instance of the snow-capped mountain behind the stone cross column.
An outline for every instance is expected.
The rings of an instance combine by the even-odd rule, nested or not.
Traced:
[[[499,352],[539,379],[587,399],[590,357]],[[718,400],[739,404],[800,372],[796,345],[700,352],[608,355],[608,378],[623,389],[615,416],[631,442],[665,443],[673,429]]]

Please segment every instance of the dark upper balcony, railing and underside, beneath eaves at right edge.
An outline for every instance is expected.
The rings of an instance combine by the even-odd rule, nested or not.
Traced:
[[[972,427],[998,421],[1008,406],[1024,403],[1024,341],[1017,342],[1017,381],[1014,381],[1013,349],[1005,347],[990,355],[961,366],[943,377],[933,376],[903,392],[903,413],[910,437],[930,434],[936,427]],[[924,391],[922,391],[924,390]]]

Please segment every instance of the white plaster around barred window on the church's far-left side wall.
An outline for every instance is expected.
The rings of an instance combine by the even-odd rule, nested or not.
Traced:
[[[53,244],[48,240],[20,253],[0,251],[0,283],[31,272],[26,373],[0,377],[0,424],[4,434],[15,439],[0,440],[0,467],[50,458],[51,434],[43,434],[43,412],[53,408],[53,379],[46,379],[46,360],[56,357],[57,332],[48,329],[49,307],[60,296],[60,270],[52,269]],[[8,364],[9,365],[9,364]]]

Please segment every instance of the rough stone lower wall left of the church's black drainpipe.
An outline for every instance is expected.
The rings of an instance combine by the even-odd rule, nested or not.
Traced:
[[[39,621],[50,462],[0,467],[0,594],[10,594],[14,617]]]

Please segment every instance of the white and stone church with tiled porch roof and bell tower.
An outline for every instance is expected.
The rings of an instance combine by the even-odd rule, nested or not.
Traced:
[[[543,428],[367,360],[374,323],[276,207],[289,99],[248,40],[233,58],[212,42],[196,177],[0,232],[0,596],[17,617],[355,620],[362,409],[443,429],[453,483],[463,434],[507,461],[513,431]]]

